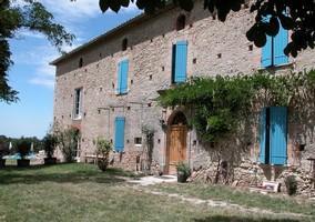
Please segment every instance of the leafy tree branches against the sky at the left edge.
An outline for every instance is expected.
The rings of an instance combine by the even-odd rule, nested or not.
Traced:
[[[13,64],[9,39],[21,29],[43,33],[61,51],[63,44],[71,44],[74,39],[65,29],[53,22],[53,16],[43,4],[34,0],[0,0],[0,102],[16,102],[18,92],[8,84],[8,70]]]

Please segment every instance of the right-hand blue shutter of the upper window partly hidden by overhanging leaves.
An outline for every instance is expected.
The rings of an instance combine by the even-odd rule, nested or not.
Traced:
[[[288,42],[288,31],[285,30],[280,22],[280,30],[274,37],[274,65],[286,64],[288,57],[283,52]]]

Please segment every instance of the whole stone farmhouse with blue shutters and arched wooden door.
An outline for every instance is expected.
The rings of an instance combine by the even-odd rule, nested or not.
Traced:
[[[191,12],[170,6],[154,16],[138,16],[51,62],[57,67],[54,122],[80,129],[81,161],[94,154],[93,141],[102,135],[113,143],[112,164],[124,169],[175,173],[175,165],[186,161],[191,169],[210,169],[212,180],[219,165],[228,164],[232,181],[240,184],[283,181],[295,173],[301,191],[314,193],[313,137],[302,137],[303,123],[291,124],[289,109],[264,108],[261,130],[253,132],[246,152],[233,151],[237,141],[231,141],[232,150],[217,159],[187,127],[192,110],[156,102],[163,90],[193,75],[276,74],[314,67],[314,51],[296,59],[283,53],[289,37],[283,28],[263,49],[253,46],[245,36],[253,23],[246,4],[222,23],[201,0]]]

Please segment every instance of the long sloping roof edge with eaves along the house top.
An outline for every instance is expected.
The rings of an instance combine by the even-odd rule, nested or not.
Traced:
[[[139,16],[130,19],[130,20],[128,20],[126,22],[123,22],[122,24],[111,29],[110,31],[108,31],[108,32],[105,32],[105,33],[103,33],[103,34],[101,34],[101,36],[99,36],[99,37],[88,41],[87,43],[84,43],[84,44],[73,49],[72,51],[62,54],[61,57],[59,57],[58,59],[53,60],[49,64],[57,65],[59,62],[61,62],[61,61],[63,61],[63,60],[65,60],[68,58],[71,58],[73,54],[75,54],[75,53],[78,53],[78,52],[80,52],[80,51],[82,51],[82,50],[84,50],[84,49],[87,49],[87,48],[89,48],[89,47],[91,47],[93,44],[96,44],[96,43],[99,43],[99,42],[101,42],[101,41],[103,41],[103,40],[105,40],[108,38],[111,38],[111,37],[115,36],[115,34],[118,34],[122,30],[124,30],[124,29],[126,29],[129,27],[132,27],[132,26],[134,26],[134,24],[136,24],[139,22],[143,22],[143,21],[146,21],[146,20],[149,20],[151,18],[154,18],[154,17],[161,14],[162,12],[167,11],[167,10],[170,10],[172,8],[173,8],[173,6],[167,6],[167,7],[165,7],[165,9],[162,9],[162,10],[158,11],[154,14],[141,13],[141,14],[139,14]]]

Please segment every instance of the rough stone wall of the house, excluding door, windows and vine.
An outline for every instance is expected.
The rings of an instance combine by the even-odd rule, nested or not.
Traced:
[[[187,41],[187,77],[216,74],[251,74],[261,70],[261,49],[254,47],[245,37],[254,22],[254,16],[247,8],[232,12],[222,23],[203,9],[202,1],[196,1],[192,12],[170,8],[156,16],[140,16],[101,36],[100,38],[74,50],[70,54],[53,62],[57,67],[54,92],[54,121],[63,128],[77,125],[81,130],[80,159],[94,153],[93,140],[103,135],[114,140],[114,118],[125,117],[124,152],[112,153],[114,165],[129,170],[148,168],[148,145],[142,129],[150,127],[154,131],[152,168],[163,171],[166,167],[166,147],[169,118],[182,111],[187,119],[193,114],[184,108],[163,109],[156,103],[159,91],[172,87],[172,46],[179,40]],[[176,18],[186,16],[186,26],[176,31]],[[123,39],[128,39],[128,49],[122,50]],[[80,58],[83,65],[79,67]],[[128,93],[115,93],[118,63],[129,59]],[[298,58],[289,58],[289,63],[270,72],[304,71],[313,68],[314,51],[306,50]],[[82,88],[82,118],[73,120],[74,90]],[[258,143],[256,132],[250,143],[242,148],[243,152],[231,154],[231,150],[213,152],[209,145],[199,141],[196,132],[190,130],[186,139],[186,159],[192,169],[213,167],[217,161],[232,161],[233,180],[251,184],[251,176],[262,180],[282,180],[294,171],[311,189],[311,163],[306,160],[314,154],[313,137],[305,138],[305,151],[297,152],[297,137],[305,131],[304,124],[289,125],[288,165],[274,169],[257,164]],[[254,128],[253,128],[254,129]],[[142,145],[134,139],[142,138]],[[242,147],[243,143],[232,144]],[[233,150],[234,148],[231,147]],[[233,157],[233,160],[232,158]],[[276,172],[276,171],[282,171]],[[298,180],[299,180],[298,179]],[[258,183],[258,182],[257,182]]]

